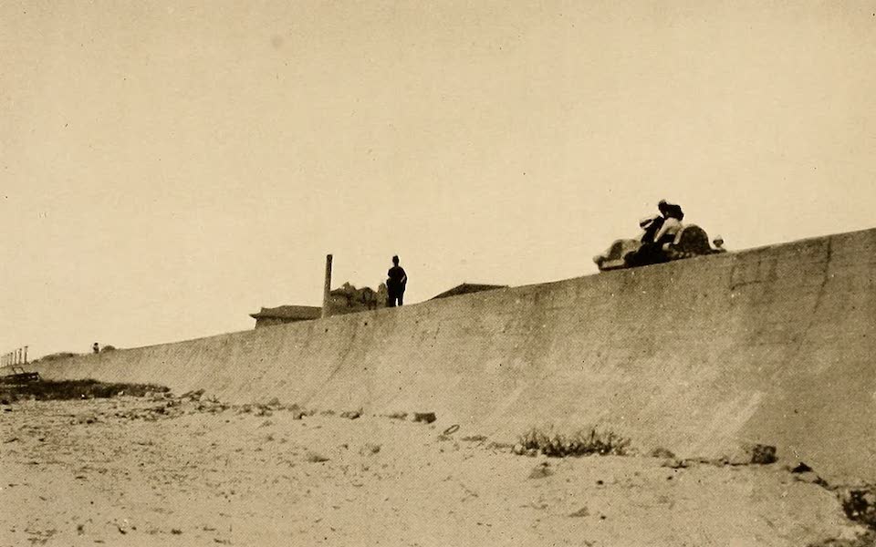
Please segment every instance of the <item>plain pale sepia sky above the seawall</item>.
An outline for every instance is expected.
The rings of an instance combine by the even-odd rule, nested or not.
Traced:
[[[0,4],[0,353],[876,225],[876,2]]]

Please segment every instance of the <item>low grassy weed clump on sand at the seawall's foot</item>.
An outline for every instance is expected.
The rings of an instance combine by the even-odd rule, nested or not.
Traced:
[[[523,453],[535,450],[550,458],[590,454],[624,456],[630,448],[630,439],[598,428],[583,428],[568,434],[553,428],[531,428],[518,438],[517,446]]]

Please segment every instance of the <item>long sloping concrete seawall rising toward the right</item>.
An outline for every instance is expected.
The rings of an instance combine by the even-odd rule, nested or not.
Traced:
[[[876,230],[161,346],[47,378],[434,411],[464,434],[606,425],[641,449],[776,445],[876,481]]]

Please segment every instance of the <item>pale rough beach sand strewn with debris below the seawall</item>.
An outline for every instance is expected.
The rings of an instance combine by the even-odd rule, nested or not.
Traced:
[[[4,408],[0,546],[802,547],[860,532],[778,464],[529,458],[463,440],[476,430],[444,437],[440,419],[161,397]]]

